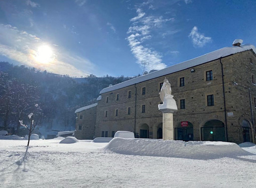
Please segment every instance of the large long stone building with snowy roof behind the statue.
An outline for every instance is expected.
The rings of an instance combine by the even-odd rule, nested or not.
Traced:
[[[118,130],[162,138],[159,92],[165,78],[178,111],[174,137],[255,143],[256,49],[233,44],[195,59],[104,88],[96,110],[95,137]]]

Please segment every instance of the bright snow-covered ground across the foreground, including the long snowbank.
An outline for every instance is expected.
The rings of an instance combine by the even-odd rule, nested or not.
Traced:
[[[252,143],[0,140],[0,187],[255,187]]]

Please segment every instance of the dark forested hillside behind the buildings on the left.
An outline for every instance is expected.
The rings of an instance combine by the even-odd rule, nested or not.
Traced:
[[[0,62],[0,130],[22,135],[19,120],[27,119],[38,104],[47,130],[74,130],[77,108],[96,102],[109,84],[128,80],[111,76],[70,78],[25,66]]]

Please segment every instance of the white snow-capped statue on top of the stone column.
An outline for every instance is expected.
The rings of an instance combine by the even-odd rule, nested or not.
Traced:
[[[174,100],[172,95],[171,84],[166,78],[164,80],[164,84],[161,88],[159,95],[161,100],[163,101],[163,104],[158,105],[159,110],[163,110],[163,109],[169,109],[173,111],[178,110],[176,101]]]

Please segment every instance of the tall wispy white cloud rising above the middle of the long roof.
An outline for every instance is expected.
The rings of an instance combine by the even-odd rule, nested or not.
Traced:
[[[149,3],[147,2],[145,5]],[[154,49],[145,47],[143,43],[153,38],[150,33],[154,28],[160,28],[163,23],[173,21],[174,19],[164,19],[162,16],[146,16],[146,13],[141,8],[137,9],[137,14],[138,16],[130,20],[132,26],[127,31],[127,34],[130,34],[130,36],[126,38],[133,55],[137,59],[137,63],[141,65],[142,62],[147,62],[147,71],[166,68],[167,66],[162,63],[162,56]]]

